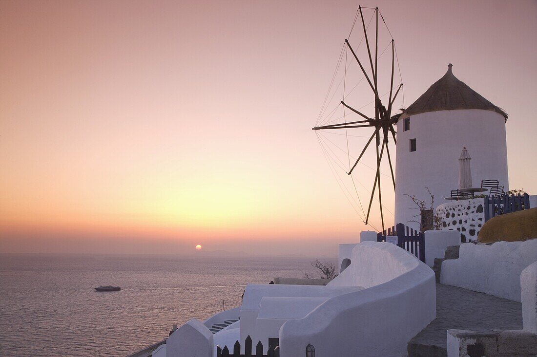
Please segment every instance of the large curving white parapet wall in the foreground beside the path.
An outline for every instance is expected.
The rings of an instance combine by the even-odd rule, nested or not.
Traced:
[[[390,243],[364,242],[353,264],[328,288],[366,287],[331,298],[280,329],[280,356],[404,356],[408,341],[436,318],[436,284],[430,267]],[[419,309],[415,307],[419,306]]]

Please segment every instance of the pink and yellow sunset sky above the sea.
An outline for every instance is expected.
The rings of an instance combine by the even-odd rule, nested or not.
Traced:
[[[310,129],[358,4],[0,2],[0,252],[335,256],[357,241]],[[361,5],[394,36],[406,106],[453,63],[505,109],[510,187],[535,194],[537,2]]]

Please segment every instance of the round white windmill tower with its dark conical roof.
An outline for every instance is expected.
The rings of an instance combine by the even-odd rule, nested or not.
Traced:
[[[446,203],[458,188],[459,155],[464,146],[471,154],[471,173],[481,180],[498,180],[509,188],[505,123],[507,114],[452,72],[434,83],[397,120],[395,222],[419,229],[416,205],[406,196]],[[419,213],[419,212],[418,212]],[[414,217],[414,218],[413,218]]]

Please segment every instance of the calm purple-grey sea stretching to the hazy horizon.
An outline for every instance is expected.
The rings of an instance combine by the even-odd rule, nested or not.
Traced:
[[[168,337],[173,324],[240,303],[246,284],[320,277],[314,260],[0,255],[0,356],[126,356]]]

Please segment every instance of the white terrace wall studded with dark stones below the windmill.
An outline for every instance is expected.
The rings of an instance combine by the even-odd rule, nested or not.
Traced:
[[[485,220],[484,198],[465,199],[440,205],[436,214],[442,218],[442,230],[457,230],[461,242],[477,241],[477,234]]]

